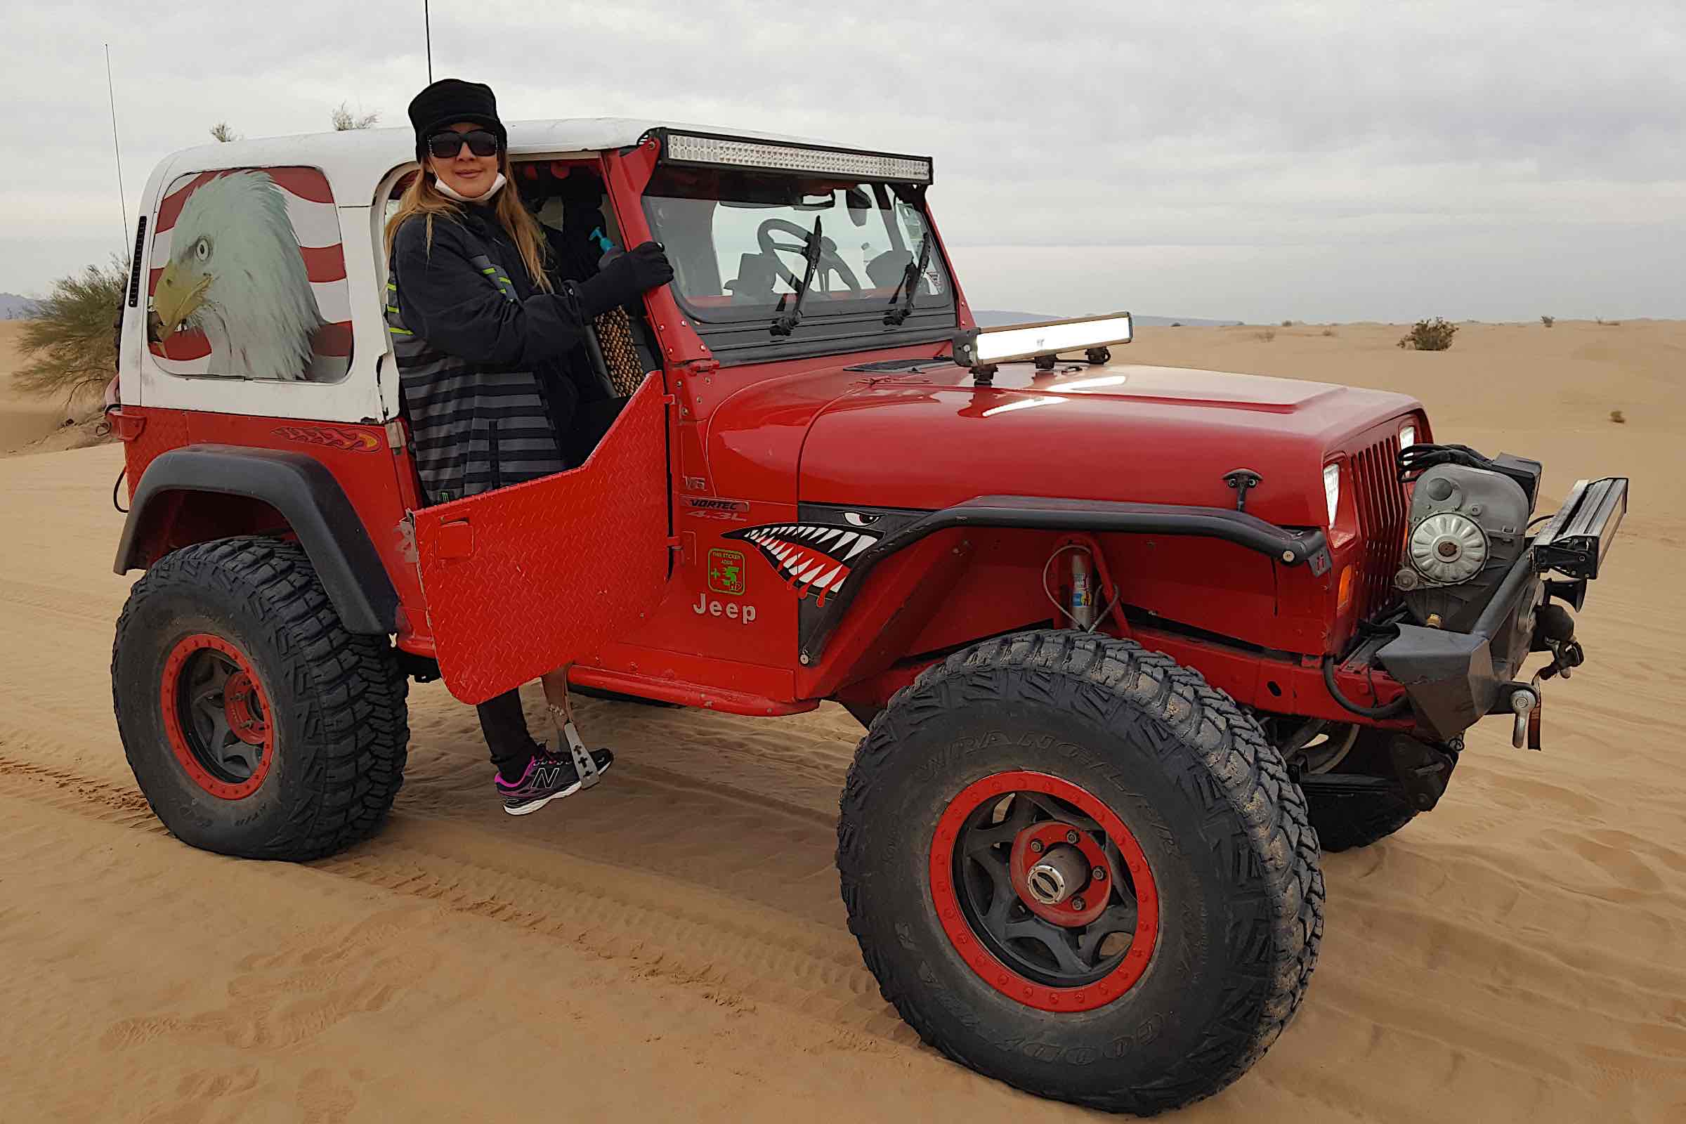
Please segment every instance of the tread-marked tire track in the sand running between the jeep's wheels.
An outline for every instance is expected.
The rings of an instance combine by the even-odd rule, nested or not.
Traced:
[[[165,834],[138,790],[3,753],[0,794]],[[671,797],[664,790],[659,799],[671,804]],[[492,816],[501,822],[499,812]],[[811,832],[814,826],[801,829]],[[582,849],[600,843],[590,831],[570,839]],[[723,849],[742,848],[732,832],[720,832],[720,839]],[[899,1045],[917,1041],[878,996],[841,923],[572,849],[489,838],[452,817],[401,811],[369,843],[305,868],[563,940],[732,1009],[772,1003]],[[833,885],[826,893],[836,898]]]

